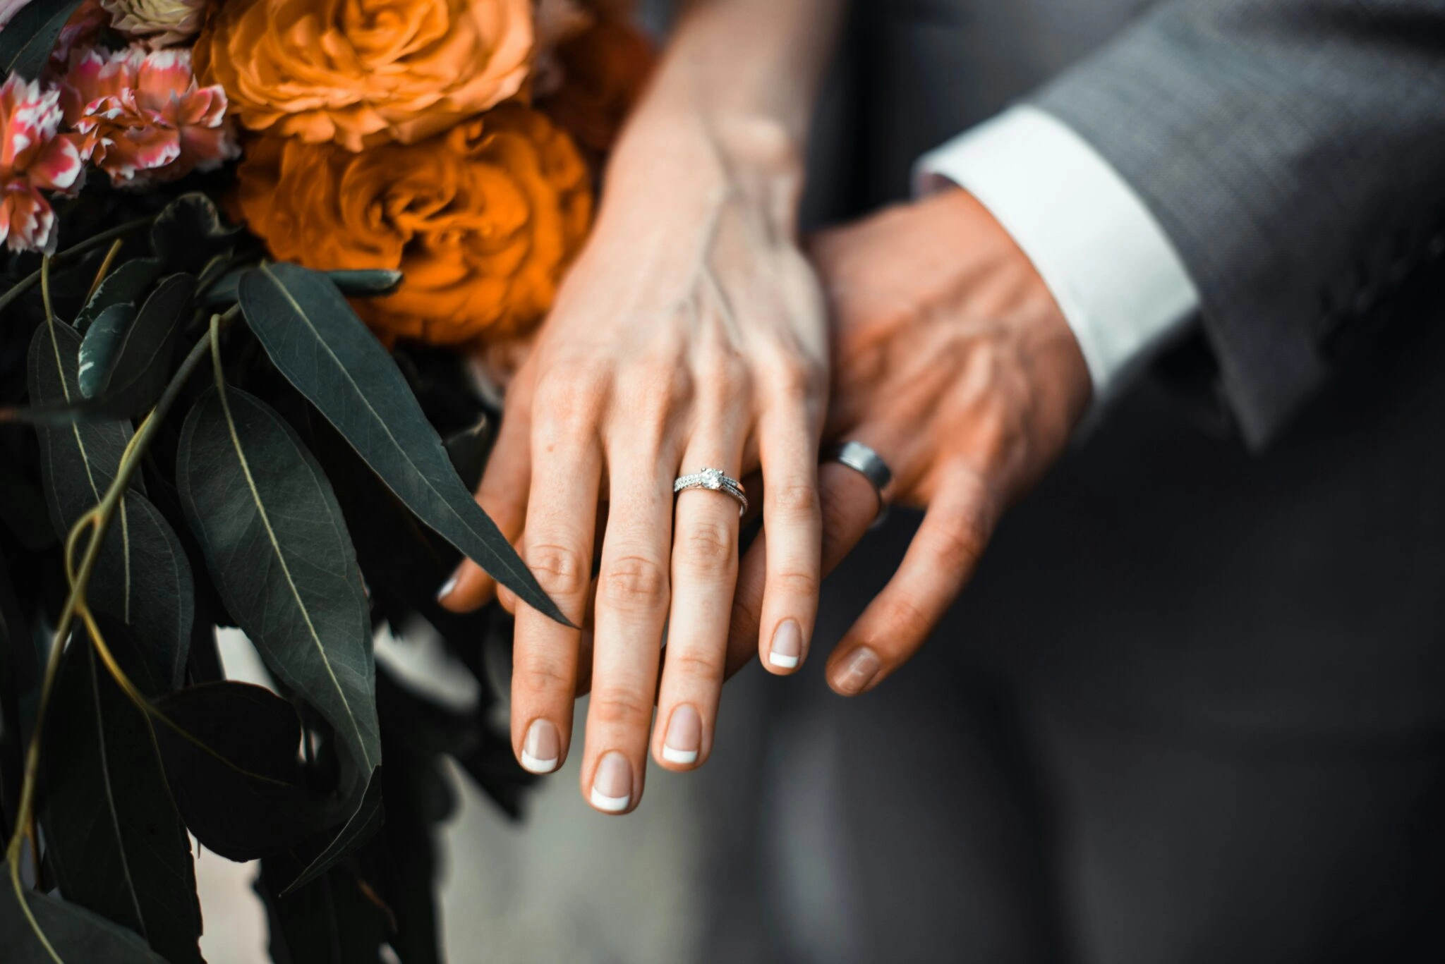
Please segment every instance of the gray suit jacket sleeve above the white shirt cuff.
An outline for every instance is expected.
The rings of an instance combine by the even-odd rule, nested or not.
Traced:
[[[1169,0],[1035,103],[1159,218],[1251,444],[1445,272],[1445,0]]]

